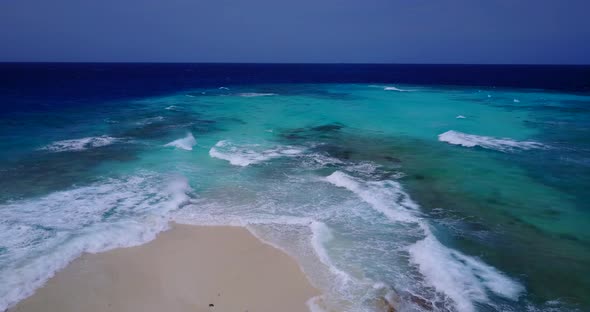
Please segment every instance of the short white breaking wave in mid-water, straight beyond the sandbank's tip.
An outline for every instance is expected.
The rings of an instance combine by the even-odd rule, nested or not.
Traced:
[[[234,145],[233,143],[223,140],[217,142],[209,150],[209,155],[213,158],[229,161],[234,166],[246,167],[257,164],[277,157],[289,157],[303,153],[302,149],[279,146],[272,149],[260,150],[260,145]]]

